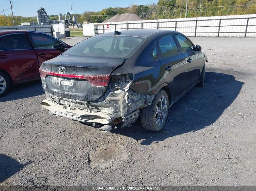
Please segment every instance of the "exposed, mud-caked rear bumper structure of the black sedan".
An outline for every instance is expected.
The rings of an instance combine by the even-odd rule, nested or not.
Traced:
[[[151,105],[154,95],[138,94],[131,89],[113,91],[99,102],[72,100],[46,93],[42,107],[50,113],[85,123],[130,126],[140,116],[140,108]]]

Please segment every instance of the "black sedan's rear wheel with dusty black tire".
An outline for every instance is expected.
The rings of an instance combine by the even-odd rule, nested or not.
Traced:
[[[165,97],[165,99],[162,98],[162,97]],[[156,113],[156,111],[157,111],[156,107],[161,102],[160,98],[162,99],[162,102],[163,101],[166,102],[167,108],[166,108],[166,110],[165,110],[165,108],[163,110],[161,110],[163,112],[158,111],[159,113],[161,113],[159,115],[158,113]],[[142,124],[142,126],[145,129],[150,130],[150,131],[159,131],[159,130],[161,130],[163,128],[163,126],[165,125],[165,121],[166,121],[167,116],[168,116],[168,109],[169,109],[168,95],[166,94],[165,91],[160,90],[158,92],[158,94],[154,97],[151,105],[141,108],[141,124]],[[158,107],[158,110],[159,110],[159,107]],[[163,114],[165,113],[165,116],[161,118],[161,116],[163,116],[162,113]],[[157,124],[157,122],[156,122],[158,117],[159,117],[159,121],[161,120],[161,122],[162,122],[161,124],[159,124],[159,123]]]

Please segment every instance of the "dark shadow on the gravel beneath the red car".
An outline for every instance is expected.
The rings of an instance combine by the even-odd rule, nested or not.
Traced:
[[[14,87],[11,87],[7,94],[0,97],[0,102],[34,97],[44,93],[41,80],[17,84]]]

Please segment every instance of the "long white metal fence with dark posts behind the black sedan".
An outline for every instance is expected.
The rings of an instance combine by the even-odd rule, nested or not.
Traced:
[[[133,29],[176,30],[188,37],[255,37],[256,14],[95,24],[95,34]]]

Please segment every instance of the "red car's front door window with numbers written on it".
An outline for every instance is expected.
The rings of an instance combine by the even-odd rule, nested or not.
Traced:
[[[59,44],[61,43],[59,40],[41,33],[28,33],[29,38],[34,43],[34,48],[57,48]],[[66,48],[66,45],[63,44]]]

